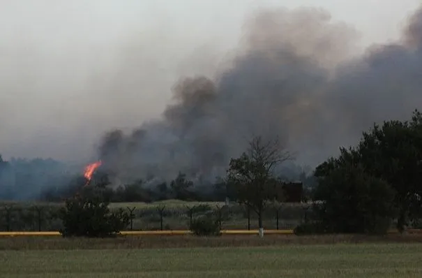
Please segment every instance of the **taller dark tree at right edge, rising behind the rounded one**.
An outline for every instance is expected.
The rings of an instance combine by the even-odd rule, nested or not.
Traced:
[[[363,133],[356,147],[342,148],[337,159],[331,158],[318,166],[315,176],[329,177],[348,165],[359,165],[366,175],[384,181],[393,189],[399,231],[409,221],[416,222],[421,217],[422,205],[421,112],[415,110],[411,121],[374,124]]]

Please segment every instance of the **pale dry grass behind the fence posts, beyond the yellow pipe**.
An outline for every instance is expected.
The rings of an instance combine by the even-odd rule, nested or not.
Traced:
[[[219,205],[222,207],[224,203],[218,202],[186,202],[182,200],[164,200],[154,203],[111,203],[110,208],[123,208],[129,212],[128,208],[133,211],[133,230],[138,231],[155,231],[161,228],[160,213],[158,207],[165,207],[165,214],[163,216],[164,230],[185,230],[189,227],[188,207],[207,205],[199,208],[193,217],[199,217],[206,212],[216,210]],[[0,231],[38,231],[38,214],[35,206],[41,207],[42,223],[41,231],[57,231],[62,227],[61,221],[56,218],[57,211],[63,206],[63,203],[30,203],[30,202],[0,202]],[[6,224],[6,207],[10,210],[10,223]],[[279,211],[279,228],[293,229],[299,224],[303,218],[304,210],[300,204],[285,203]],[[246,229],[248,228],[248,217],[246,215],[245,207],[232,203],[229,212],[225,210],[225,216],[228,218],[223,221],[223,229]],[[275,211],[273,207],[269,207],[264,212],[264,227],[267,229],[276,229]],[[310,215],[312,217],[312,215]],[[255,229],[258,221],[255,213],[250,214],[250,228]],[[128,227],[129,229],[129,227]]]

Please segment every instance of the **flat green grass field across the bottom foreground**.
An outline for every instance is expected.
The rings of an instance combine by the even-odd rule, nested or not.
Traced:
[[[3,277],[422,277],[421,244],[0,251]]]

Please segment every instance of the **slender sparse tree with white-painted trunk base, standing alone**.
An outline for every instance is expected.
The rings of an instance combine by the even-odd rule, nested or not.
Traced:
[[[276,199],[280,180],[273,170],[283,161],[291,159],[289,152],[282,151],[278,140],[263,140],[257,136],[250,140],[247,152],[238,159],[231,159],[227,170],[227,185],[239,203],[257,213],[259,236],[264,235],[262,212]]]

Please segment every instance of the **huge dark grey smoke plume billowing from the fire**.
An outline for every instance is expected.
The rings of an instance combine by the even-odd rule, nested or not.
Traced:
[[[373,122],[407,119],[421,103],[422,10],[395,43],[353,57],[357,33],[313,8],[259,10],[216,76],[181,78],[162,117],[107,133],[99,156],[121,180],[212,179],[253,135],[280,138],[315,166]]]

